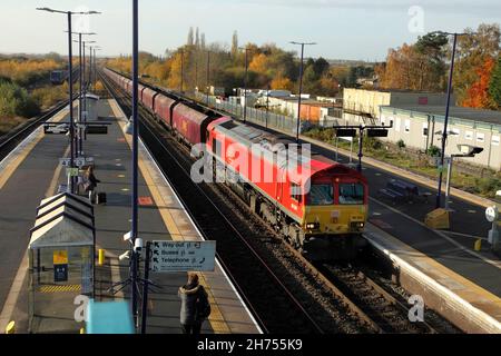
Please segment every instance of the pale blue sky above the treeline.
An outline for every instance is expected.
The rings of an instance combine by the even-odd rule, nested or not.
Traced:
[[[36,7],[104,13],[90,19],[106,55],[130,52],[130,0],[1,0],[0,52],[67,53],[66,17]],[[499,0],[139,0],[140,49],[160,55],[186,41],[190,26],[208,42],[314,41],[310,57],[382,60],[387,49],[442,29],[461,31],[501,22]],[[76,19],[76,22],[78,19]],[[424,32],[422,32],[424,31]]]

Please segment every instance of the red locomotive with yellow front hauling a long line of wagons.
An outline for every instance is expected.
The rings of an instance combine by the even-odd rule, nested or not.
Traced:
[[[131,95],[129,78],[104,72]],[[357,170],[174,92],[139,83],[137,96],[191,156],[212,162],[215,181],[310,259],[352,260],[365,246],[369,185]]]

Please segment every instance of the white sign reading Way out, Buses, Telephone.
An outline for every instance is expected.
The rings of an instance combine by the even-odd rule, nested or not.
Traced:
[[[151,271],[213,271],[216,241],[153,241]]]

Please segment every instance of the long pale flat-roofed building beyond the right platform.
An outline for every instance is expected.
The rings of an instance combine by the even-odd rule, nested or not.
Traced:
[[[345,89],[341,125],[392,125],[387,140],[426,151],[441,147],[445,118],[444,93]],[[455,102],[454,98],[451,100]],[[501,170],[501,111],[451,105],[445,154],[458,154],[458,145],[483,148],[468,162]]]

